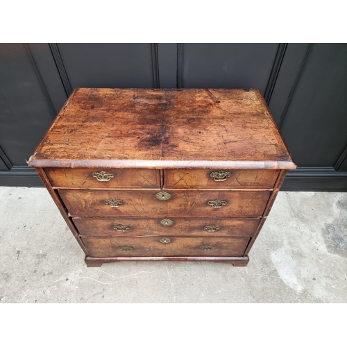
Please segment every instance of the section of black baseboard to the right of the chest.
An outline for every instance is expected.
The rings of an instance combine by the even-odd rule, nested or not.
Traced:
[[[298,167],[289,170],[281,187],[287,192],[347,192],[347,172],[333,167]]]

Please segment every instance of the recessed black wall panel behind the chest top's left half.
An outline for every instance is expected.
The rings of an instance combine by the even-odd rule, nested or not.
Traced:
[[[153,88],[151,44],[58,44],[72,89]]]

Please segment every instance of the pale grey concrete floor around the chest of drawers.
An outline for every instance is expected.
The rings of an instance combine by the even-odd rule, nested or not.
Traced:
[[[44,188],[0,187],[1,303],[346,303],[347,194],[280,192],[247,267],[87,268]]]

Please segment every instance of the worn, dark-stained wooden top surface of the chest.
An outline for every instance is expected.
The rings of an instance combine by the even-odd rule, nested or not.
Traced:
[[[31,167],[295,169],[259,90],[74,90]]]

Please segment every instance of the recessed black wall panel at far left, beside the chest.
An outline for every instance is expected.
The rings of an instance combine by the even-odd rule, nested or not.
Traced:
[[[0,44],[0,146],[26,165],[56,115],[25,44]]]

